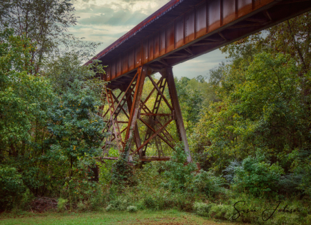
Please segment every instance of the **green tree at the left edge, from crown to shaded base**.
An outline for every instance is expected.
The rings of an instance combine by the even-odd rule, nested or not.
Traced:
[[[36,179],[48,151],[47,111],[55,94],[43,77],[32,75],[35,45],[12,29],[0,32],[0,163],[22,171],[28,188],[42,186]]]

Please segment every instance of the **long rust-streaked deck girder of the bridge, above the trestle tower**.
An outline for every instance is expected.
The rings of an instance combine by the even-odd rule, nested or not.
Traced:
[[[190,60],[310,8],[310,0],[170,1],[94,59],[108,65],[103,79],[116,81],[143,64],[161,69]]]

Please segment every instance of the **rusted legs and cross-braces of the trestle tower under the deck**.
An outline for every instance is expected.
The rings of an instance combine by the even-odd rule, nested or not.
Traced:
[[[120,87],[121,93],[119,93],[118,95],[118,97],[121,96],[120,99],[118,99],[118,97],[114,95],[112,90],[107,90],[107,102],[112,102],[111,98],[113,98],[116,107],[112,104],[108,105],[110,109],[110,117],[107,121],[107,124],[109,125],[107,131],[109,131],[109,129],[112,129],[114,133],[110,132],[113,138],[109,138],[109,141],[106,141],[104,151],[105,154],[107,154],[106,147],[109,147],[109,145],[112,144],[112,141],[115,141],[115,147],[117,147],[120,152],[125,152],[125,157],[130,158],[130,161],[135,154],[139,154],[139,158],[143,159],[143,157],[145,157],[145,152],[147,150],[148,144],[150,144],[150,141],[154,140],[154,143],[157,146],[159,157],[163,156],[163,149],[159,139],[161,139],[161,141],[166,143],[169,147],[174,148],[175,146],[174,138],[166,129],[166,127],[170,125],[172,120],[176,120],[179,140],[184,141],[185,150],[188,154],[190,153],[186,140],[186,131],[184,129],[181,111],[177,99],[177,91],[175,88],[174,78],[172,76],[172,68],[168,67],[166,69],[162,69],[160,71],[162,77],[159,79],[158,82],[155,82],[154,79],[150,76],[150,73],[152,72],[153,70],[150,69],[150,67],[141,67],[134,75],[134,78],[137,78],[135,84],[133,82],[134,78],[132,78],[130,84],[127,87]],[[145,98],[145,100],[142,100],[141,94],[143,91],[143,83],[145,77],[150,80],[151,84],[153,85],[153,89],[151,90],[151,93],[148,94],[147,98]],[[166,87],[168,87],[170,93],[169,100],[166,98],[166,96],[164,96],[164,90],[166,89]],[[154,93],[154,91],[156,91],[156,93]],[[155,94],[155,98],[153,108],[152,110],[150,110],[146,103],[150,99],[152,93]],[[109,96],[111,97],[109,98]],[[126,101],[126,105],[123,101]],[[136,102],[136,104],[134,104],[134,102]],[[161,102],[165,103],[164,106],[166,106],[167,110],[170,111],[170,113],[159,113],[159,109],[162,104]],[[127,111],[125,111],[124,109],[125,106],[127,107],[128,114]],[[145,113],[141,113],[141,110],[143,110]],[[122,115],[120,114],[121,111],[123,111]],[[123,116],[123,120],[125,116],[126,118],[128,118],[128,121],[121,121],[121,119],[118,118],[120,116]],[[148,118],[148,120],[145,120],[144,118]],[[162,122],[160,121],[160,118],[162,118]],[[141,136],[139,134],[137,119],[146,126],[145,138],[143,139],[143,143],[141,143]],[[120,132],[120,128],[118,126],[121,123],[125,123],[127,127],[125,127]],[[122,134],[125,130],[127,134],[125,134],[124,138],[122,138]],[[133,149],[134,146],[132,146],[132,139],[134,140],[136,149]],[[125,141],[122,142],[122,140]],[[121,142],[122,145],[118,144],[118,142]],[[162,159],[159,158],[159,160],[161,161]],[[187,161],[191,161],[190,154],[188,155]]]

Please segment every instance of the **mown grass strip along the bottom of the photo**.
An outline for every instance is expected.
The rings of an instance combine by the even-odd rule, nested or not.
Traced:
[[[125,212],[96,212],[96,213],[26,213],[24,215],[2,214],[1,225],[17,224],[51,224],[51,225],[75,225],[75,224],[206,224],[229,225],[224,222],[213,222],[190,213],[182,213],[176,210],[168,211],[139,211],[137,213]],[[236,224],[236,223],[235,223]]]

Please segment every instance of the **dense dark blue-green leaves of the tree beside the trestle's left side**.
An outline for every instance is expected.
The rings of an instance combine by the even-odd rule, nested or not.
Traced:
[[[100,154],[98,147],[103,138],[103,120],[96,115],[96,99],[83,89],[78,93],[71,91],[62,95],[55,109],[51,111],[48,131],[52,152],[66,156],[72,168],[82,156]]]

